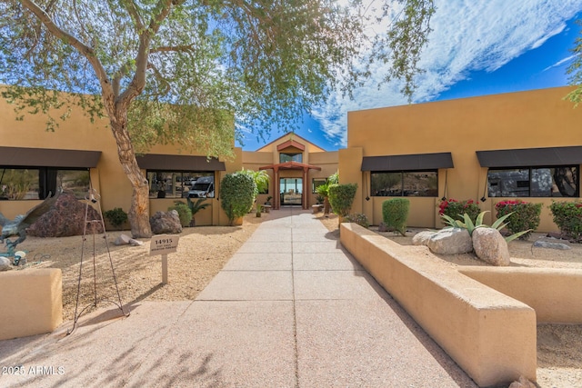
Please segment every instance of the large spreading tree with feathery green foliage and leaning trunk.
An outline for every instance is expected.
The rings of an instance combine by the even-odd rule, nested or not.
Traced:
[[[131,232],[149,237],[136,152],[174,143],[232,156],[235,124],[286,128],[331,85],[349,93],[369,74],[352,62],[364,50],[393,64],[386,77],[403,79],[411,95],[433,1],[398,0],[395,14],[382,0],[378,17],[396,22],[376,39],[364,34],[376,15],[350,3],[2,0],[0,83],[10,85],[2,95],[21,114],[48,114],[51,130],[74,105],[105,115],[133,187]]]

